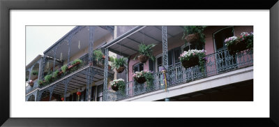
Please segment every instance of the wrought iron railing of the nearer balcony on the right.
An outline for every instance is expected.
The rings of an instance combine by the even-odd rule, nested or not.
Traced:
[[[167,68],[167,88],[252,65],[252,50],[246,50],[234,55],[230,55],[227,50],[220,50],[213,54],[206,55],[204,66],[184,68],[181,64],[179,64]],[[165,89],[165,84],[163,83],[163,73],[154,73],[153,77],[153,85],[147,85],[146,83],[138,84],[137,82],[130,81],[127,82],[126,89],[119,91],[112,91],[109,89],[105,91],[105,96],[107,96],[106,100],[123,100],[146,94],[151,91]]]

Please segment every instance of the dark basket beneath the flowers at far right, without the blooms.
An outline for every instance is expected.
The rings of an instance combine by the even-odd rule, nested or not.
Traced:
[[[230,55],[234,55],[237,52],[241,52],[243,50],[247,50],[247,44],[245,42],[236,42],[233,45],[228,45],[227,50],[229,51]]]

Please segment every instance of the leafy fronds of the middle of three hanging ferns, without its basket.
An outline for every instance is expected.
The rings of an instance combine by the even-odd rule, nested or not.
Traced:
[[[155,47],[156,45],[151,44],[151,45],[145,45],[144,43],[139,45],[139,50],[138,50],[138,55],[134,58],[137,59],[140,55],[145,55],[149,57],[152,61],[155,61],[155,57],[152,54],[152,48]]]

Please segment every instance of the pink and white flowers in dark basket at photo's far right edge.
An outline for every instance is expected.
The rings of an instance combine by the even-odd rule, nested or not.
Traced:
[[[253,33],[242,32],[241,37],[232,36],[225,39],[225,45],[230,55],[243,50],[252,49],[253,47]]]

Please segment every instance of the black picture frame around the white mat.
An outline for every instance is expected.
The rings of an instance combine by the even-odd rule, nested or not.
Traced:
[[[270,10],[269,118],[10,118],[10,11],[13,9],[266,9]],[[0,125],[3,126],[279,126],[278,0],[271,1],[79,1],[0,0]],[[3,62],[5,61],[5,62]],[[268,85],[266,82],[265,85]],[[163,111],[162,111],[163,112]],[[257,111],[255,111],[257,112]]]

